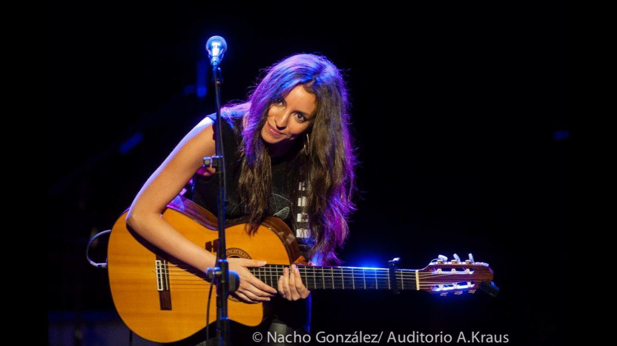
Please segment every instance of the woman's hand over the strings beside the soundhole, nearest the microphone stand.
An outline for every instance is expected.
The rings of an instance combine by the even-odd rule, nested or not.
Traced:
[[[278,293],[276,289],[263,283],[247,269],[247,267],[263,267],[266,264],[265,260],[250,260],[236,257],[227,260],[230,264],[230,270],[233,270],[240,276],[240,286],[236,292],[233,292],[240,299],[248,303],[267,302],[270,300],[270,297]]]

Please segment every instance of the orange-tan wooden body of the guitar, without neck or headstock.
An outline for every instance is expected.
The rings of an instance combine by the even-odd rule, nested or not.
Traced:
[[[205,274],[173,259],[128,229],[126,214],[112,229],[107,258],[112,297],[126,326],[155,342],[184,339],[205,328],[210,289]],[[209,211],[178,197],[163,217],[193,243],[216,251],[217,218]],[[268,217],[252,236],[246,233],[244,225],[226,228],[228,257],[286,265],[299,259],[296,238],[282,220]],[[228,312],[230,320],[257,326],[265,318],[265,305],[246,304],[230,297]],[[212,297],[210,321],[215,320],[216,299]]]

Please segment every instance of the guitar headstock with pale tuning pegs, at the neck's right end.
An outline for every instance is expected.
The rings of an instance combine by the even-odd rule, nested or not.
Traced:
[[[417,276],[418,289],[442,296],[450,292],[475,293],[477,289],[487,292],[492,297],[499,293],[499,288],[492,283],[493,270],[489,264],[476,262],[471,254],[467,260],[461,260],[457,254],[454,254],[452,260],[439,255],[438,259],[432,260],[424,269],[418,270]]]

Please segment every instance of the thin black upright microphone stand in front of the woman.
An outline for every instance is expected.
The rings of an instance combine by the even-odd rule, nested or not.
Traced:
[[[230,293],[230,271],[225,245],[225,157],[223,156],[223,118],[221,116],[220,84],[223,83],[222,71],[217,62],[212,63],[212,79],[215,89],[217,107],[216,156],[204,158],[204,166],[216,169],[218,176],[218,249],[217,267],[208,270],[207,276],[217,285],[217,339],[218,345],[230,344],[230,320],[227,312],[227,298]],[[238,286],[239,278],[233,286]],[[208,326],[206,327],[208,328]]]

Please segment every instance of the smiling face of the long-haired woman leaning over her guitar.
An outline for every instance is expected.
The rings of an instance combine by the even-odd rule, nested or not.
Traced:
[[[277,148],[276,152],[289,148],[289,144],[304,135],[315,119],[317,111],[315,95],[298,84],[289,95],[268,110],[268,118],[262,128],[262,139]]]

